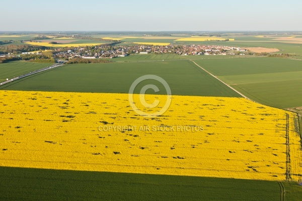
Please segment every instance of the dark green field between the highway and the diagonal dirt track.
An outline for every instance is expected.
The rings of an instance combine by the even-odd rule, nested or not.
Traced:
[[[140,76],[157,75],[170,86],[173,95],[238,97],[229,87],[201,70],[189,60],[157,62],[115,62],[96,64],[70,64],[34,75],[3,86],[5,90],[128,93],[131,84]],[[157,81],[143,81],[165,88]],[[148,90],[147,93],[154,93]]]

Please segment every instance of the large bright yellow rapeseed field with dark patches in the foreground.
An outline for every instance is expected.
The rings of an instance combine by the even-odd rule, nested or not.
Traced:
[[[128,94],[2,90],[0,118],[0,166],[301,179],[296,115],[244,98],[173,96],[145,118]]]

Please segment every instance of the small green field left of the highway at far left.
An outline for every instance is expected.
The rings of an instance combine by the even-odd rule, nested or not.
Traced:
[[[25,61],[0,63],[0,82],[36,71],[38,69],[43,69],[50,65],[52,65],[52,63],[35,63]]]

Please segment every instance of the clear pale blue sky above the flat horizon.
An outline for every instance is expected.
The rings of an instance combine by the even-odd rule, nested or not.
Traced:
[[[298,0],[2,0],[0,9],[0,31],[302,31]]]

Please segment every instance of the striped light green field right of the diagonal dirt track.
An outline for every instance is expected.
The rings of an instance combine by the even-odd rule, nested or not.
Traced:
[[[252,100],[279,108],[302,106],[300,60],[254,57],[196,62]]]

